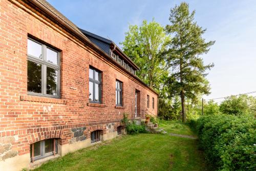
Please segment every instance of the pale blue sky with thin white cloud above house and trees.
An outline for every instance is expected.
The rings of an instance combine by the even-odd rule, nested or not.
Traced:
[[[182,1],[170,0],[48,0],[78,27],[110,38],[124,40],[129,25],[152,20],[169,24],[170,8]],[[206,99],[256,91],[256,2],[185,1],[196,10],[195,20],[206,28],[206,40],[216,40],[205,63],[214,62],[207,79],[211,94]],[[256,95],[256,94],[252,94]]]

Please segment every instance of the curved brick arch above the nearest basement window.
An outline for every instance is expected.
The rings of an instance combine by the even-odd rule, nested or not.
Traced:
[[[37,141],[42,141],[50,138],[63,138],[63,131],[55,130],[55,131],[46,131],[40,133],[33,133],[26,137],[29,144],[33,144]]]

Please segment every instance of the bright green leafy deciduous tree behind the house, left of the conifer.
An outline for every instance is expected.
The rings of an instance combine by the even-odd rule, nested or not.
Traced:
[[[168,74],[162,55],[168,40],[164,28],[153,19],[148,24],[144,20],[139,27],[130,25],[124,41],[120,42],[124,53],[140,68],[136,75],[158,92]]]

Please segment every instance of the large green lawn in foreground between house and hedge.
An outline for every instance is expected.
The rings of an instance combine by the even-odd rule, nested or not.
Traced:
[[[185,131],[181,125],[181,129]],[[166,126],[169,127],[169,126]],[[187,134],[186,134],[187,135]],[[118,137],[41,165],[35,170],[207,170],[197,140],[168,134]]]

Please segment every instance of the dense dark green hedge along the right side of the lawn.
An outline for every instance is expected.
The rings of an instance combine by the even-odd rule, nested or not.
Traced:
[[[255,129],[256,121],[249,115],[211,115],[197,120],[200,146],[218,170],[256,169]]]

